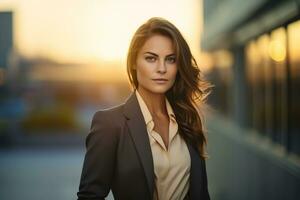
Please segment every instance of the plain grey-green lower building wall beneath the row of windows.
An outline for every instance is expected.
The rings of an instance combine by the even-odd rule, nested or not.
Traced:
[[[299,165],[293,157],[224,117],[211,115],[209,119],[211,199],[299,199]]]

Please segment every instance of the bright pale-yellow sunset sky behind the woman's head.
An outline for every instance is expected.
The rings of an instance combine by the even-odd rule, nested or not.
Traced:
[[[124,61],[130,39],[153,16],[173,22],[200,54],[201,0],[0,0],[14,12],[14,41],[26,56]]]

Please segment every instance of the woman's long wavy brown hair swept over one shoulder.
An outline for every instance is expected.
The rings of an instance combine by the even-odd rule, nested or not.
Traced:
[[[148,38],[153,35],[169,37],[175,49],[178,72],[173,86],[166,92],[178,123],[179,134],[189,142],[202,158],[206,158],[205,131],[197,101],[205,102],[211,84],[204,81],[197,62],[180,31],[169,21],[159,17],[150,18],[142,24],[131,40],[127,55],[127,73],[131,86],[138,88],[135,70],[137,55]]]

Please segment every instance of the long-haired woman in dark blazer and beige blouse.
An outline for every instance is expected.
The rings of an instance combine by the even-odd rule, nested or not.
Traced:
[[[206,139],[196,100],[209,84],[178,29],[151,18],[127,57],[134,88],[125,103],[94,114],[79,200],[207,200]]]

